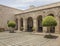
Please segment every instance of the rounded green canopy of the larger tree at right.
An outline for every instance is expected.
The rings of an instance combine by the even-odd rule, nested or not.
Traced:
[[[56,26],[57,22],[54,17],[52,16],[47,16],[43,19],[42,21],[43,26]]]

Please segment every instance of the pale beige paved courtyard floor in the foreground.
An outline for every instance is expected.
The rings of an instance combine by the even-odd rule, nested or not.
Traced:
[[[1,32],[0,46],[60,46],[60,36],[57,39],[47,39],[43,34],[31,32]]]

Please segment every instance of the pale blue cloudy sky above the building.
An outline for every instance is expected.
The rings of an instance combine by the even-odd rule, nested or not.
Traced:
[[[28,9],[30,5],[38,7],[55,2],[60,2],[60,0],[0,0],[2,5],[22,10]]]

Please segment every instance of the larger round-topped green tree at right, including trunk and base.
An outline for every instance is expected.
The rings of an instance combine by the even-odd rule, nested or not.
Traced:
[[[48,27],[48,32],[49,32],[49,35],[46,35],[48,38],[51,38],[51,33],[50,33],[50,27],[55,27],[57,25],[57,22],[55,20],[54,17],[52,16],[47,16],[43,19],[42,21],[42,25],[44,27]]]

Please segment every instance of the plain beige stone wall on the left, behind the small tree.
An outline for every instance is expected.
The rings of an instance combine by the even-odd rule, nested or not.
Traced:
[[[15,14],[20,12],[22,12],[22,10],[0,5],[0,27],[7,29],[7,21],[15,20]]]

